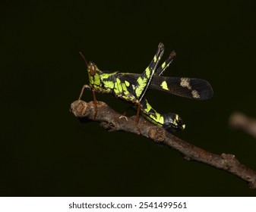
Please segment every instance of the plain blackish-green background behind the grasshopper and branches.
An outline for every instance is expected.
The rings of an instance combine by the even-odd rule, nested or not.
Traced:
[[[159,42],[175,62],[166,76],[208,80],[214,96],[147,98],[180,114],[176,136],[256,170],[256,141],[229,127],[256,117],[255,1],[1,1],[2,196],[254,196],[242,179],[130,133],[80,123],[70,112],[86,66],[142,73]],[[127,104],[97,95],[115,110]],[[90,92],[84,92],[90,101]]]

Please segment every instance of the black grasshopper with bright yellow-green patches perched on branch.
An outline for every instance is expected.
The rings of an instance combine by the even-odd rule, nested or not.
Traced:
[[[87,64],[90,84],[84,85],[84,89],[93,91],[93,99],[96,104],[95,92],[111,93],[116,98],[128,101],[137,107],[137,118],[141,113],[151,123],[163,126],[169,132],[185,129],[181,117],[178,114],[159,114],[156,112],[145,98],[148,89],[156,89],[179,95],[185,98],[207,99],[213,96],[213,89],[206,80],[187,77],[165,77],[161,76],[175,58],[175,52],[169,55],[166,61],[158,67],[163,56],[163,43],[158,45],[156,55],[144,73],[109,73],[100,70],[96,64]],[[87,63],[87,62],[86,62]]]

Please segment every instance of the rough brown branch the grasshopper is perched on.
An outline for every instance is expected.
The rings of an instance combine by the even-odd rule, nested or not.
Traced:
[[[136,117],[122,116],[102,101],[97,101],[97,114],[95,118],[95,104],[93,101],[88,103],[81,100],[74,101],[71,104],[71,112],[82,122],[97,121],[100,123],[100,126],[111,132],[122,130],[129,133],[138,133],[138,129],[135,126]],[[144,118],[140,118],[138,126],[141,129],[141,136],[174,148],[182,153],[188,161],[198,161],[220,170],[226,170],[248,182],[248,186],[251,189],[256,189],[256,172],[240,164],[235,155],[225,153],[221,155],[212,154],[173,136],[162,127],[155,126],[144,120]]]

